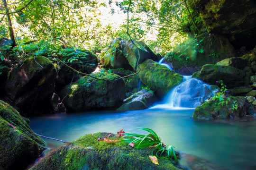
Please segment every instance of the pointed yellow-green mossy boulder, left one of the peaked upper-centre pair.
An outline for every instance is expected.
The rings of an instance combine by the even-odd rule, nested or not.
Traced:
[[[117,38],[110,43],[110,47],[104,49],[101,54],[101,64],[104,68],[124,68],[133,70],[123,52],[125,41]]]

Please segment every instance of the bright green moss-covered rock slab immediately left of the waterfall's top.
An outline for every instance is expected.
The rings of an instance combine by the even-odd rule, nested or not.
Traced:
[[[163,98],[176,85],[183,81],[183,76],[165,66],[147,59],[139,65],[138,76],[143,84],[149,86],[156,97]]]

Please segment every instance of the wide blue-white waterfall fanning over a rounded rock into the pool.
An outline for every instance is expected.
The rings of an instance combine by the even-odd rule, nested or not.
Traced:
[[[194,109],[214,96],[212,85],[203,83],[192,76],[183,76],[183,83],[175,86],[166,96],[163,103],[153,106],[155,108]]]

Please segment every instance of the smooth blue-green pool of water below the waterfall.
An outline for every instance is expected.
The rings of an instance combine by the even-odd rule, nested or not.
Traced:
[[[201,121],[192,119],[192,114],[192,109],[147,109],[46,115],[31,118],[30,127],[37,134],[65,141],[88,133],[117,133],[122,128],[125,132],[142,134],[143,131],[130,128],[148,127],[179,152],[198,156],[228,170],[256,169],[255,118]],[[50,149],[63,144],[44,140]]]

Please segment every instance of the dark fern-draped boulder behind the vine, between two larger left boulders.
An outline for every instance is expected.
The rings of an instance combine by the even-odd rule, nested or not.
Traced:
[[[62,60],[65,60],[66,63],[59,63],[59,65],[56,66],[58,77],[55,83],[55,91],[62,90],[64,86],[71,84],[72,80],[75,82],[80,78],[78,73],[73,71],[68,66],[86,74],[90,74],[97,68],[98,59],[95,54],[87,50],[81,50],[80,52],[82,53],[82,56],[80,56],[77,60],[73,60],[72,62],[70,62],[70,59],[74,57],[72,55],[60,57]]]

